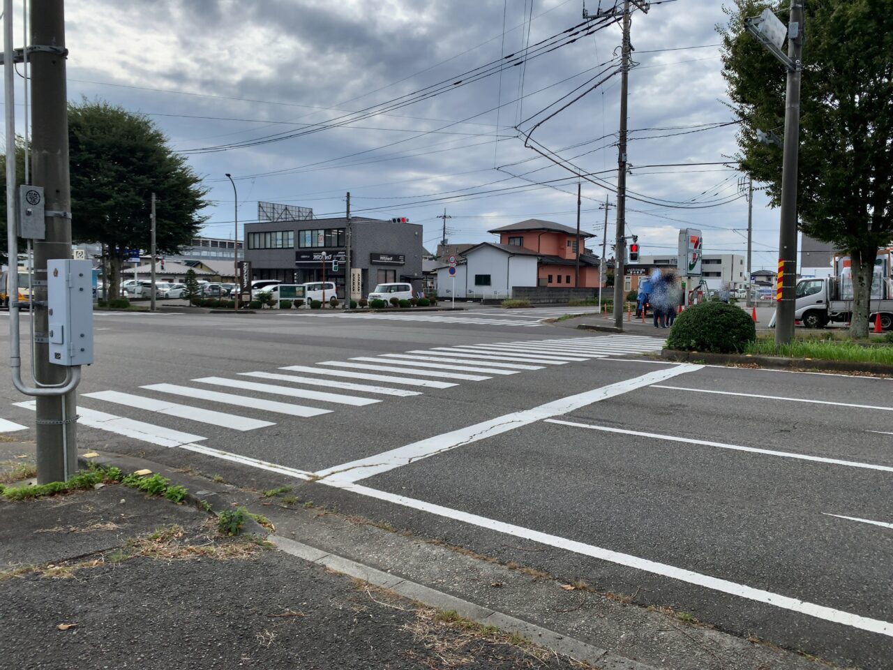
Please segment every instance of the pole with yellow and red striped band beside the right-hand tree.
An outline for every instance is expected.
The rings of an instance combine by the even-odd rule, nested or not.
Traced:
[[[797,158],[800,138],[800,72],[803,54],[803,2],[792,0],[788,23],[788,90],[784,115],[784,158],[781,166],[781,221],[779,227],[779,273],[776,292],[780,300],[775,316],[775,344],[794,339],[797,302]]]

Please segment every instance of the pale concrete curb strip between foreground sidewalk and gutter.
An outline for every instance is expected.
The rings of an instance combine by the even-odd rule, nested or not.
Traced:
[[[302,558],[317,565],[324,565],[337,573],[346,574],[382,589],[393,591],[422,605],[437,607],[445,611],[453,610],[459,616],[471,619],[478,624],[492,625],[503,632],[517,633],[541,647],[553,649],[559,654],[572,657],[578,661],[586,661],[587,663],[597,665],[601,670],[653,670],[653,666],[646,666],[629,658],[617,656],[586,642],[574,640],[536,624],[529,624],[514,616],[497,612],[488,607],[481,607],[443,591],[431,589],[416,582],[410,582],[394,574],[376,570],[362,563],[356,563],[349,558],[339,557],[321,549],[314,549],[306,544],[288,540],[288,538],[279,535],[270,535],[267,539],[275,544],[280,551],[284,551],[291,556]]]

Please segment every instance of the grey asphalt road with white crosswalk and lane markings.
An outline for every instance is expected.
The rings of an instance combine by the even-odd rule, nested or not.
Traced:
[[[305,482],[347,513],[893,666],[893,383],[647,361],[666,331],[539,321],[562,311],[585,308],[96,314],[79,446]],[[33,432],[6,380],[0,399]]]

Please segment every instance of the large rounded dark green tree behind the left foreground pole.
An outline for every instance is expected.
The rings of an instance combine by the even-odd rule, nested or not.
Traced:
[[[208,191],[145,116],[84,100],[69,105],[68,135],[71,237],[104,245],[115,297],[127,250],[149,247],[152,193],[156,250],[176,254],[205,221],[198,213]]]

